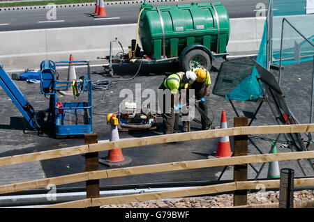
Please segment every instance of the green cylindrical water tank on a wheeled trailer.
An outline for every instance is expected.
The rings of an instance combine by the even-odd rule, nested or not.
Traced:
[[[179,63],[186,71],[192,68],[211,69],[215,58],[226,58],[230,21],[222,3],[191,3],[177,6],[152,6],[143,3],[137,22],[136,39],[128,53],[117,40],[110,42],[112,63]],[[142,44],[142,49],[138,45]],[[119,42],[122,53],[112,55],[112,44]]]

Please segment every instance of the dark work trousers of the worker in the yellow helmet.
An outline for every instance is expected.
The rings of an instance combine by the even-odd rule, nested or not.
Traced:
[[[205,84],[195,81],[192,84],[192,88],[195,90],[195,100],[200,100],[200,98],[202,98],[203,95],[204,95]],[[186,98],[189,98],[188,90],[186,91]],[[186,100],[186,104],[189,105],[188,99]],[[204,111],[204,113],[207,114],[207,104],[206,104],[206,102],[198,102],[198,106],[200,107],[200,109],[202,111]],[[183,113],[182,116],[188,116],[188,113],[186,113],[186,114]],[[201,116],[201,122],[202,122],[202,130],[208,129],[208,126],[207,126],[203,116]],[[183,122],[183,127],[184,127],[184,131],[186,131],[188,129],[188,121],[184,121]]]

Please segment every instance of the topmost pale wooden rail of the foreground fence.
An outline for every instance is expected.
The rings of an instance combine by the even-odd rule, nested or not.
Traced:
[[[0,166],[22,164],[30,161],[40,161],[59,157],[68,157],[77,154],[85,154],[88,152],[100,152],[119,148],[133,148],[143,145],[155,145],[160,143],[192,141],[203,138],[241,136],[250,134],[287,134],[302,132],[314,132],[314,124],[232,127],[227,129],[202,130],[198,132],[187,132],[181,134],[146,136],[141,138],[125,138],[120,139],[119,141],[108,141],[106,143],[94,143],[89,145],[79,145],[71,148],[61,148],[58,150],[47,150],[42,152],[33,152],[29,154],[20,154],[11,157],[1,157]]]

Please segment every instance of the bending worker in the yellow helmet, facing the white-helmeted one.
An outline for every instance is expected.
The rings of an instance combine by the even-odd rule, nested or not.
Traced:
[[[193,68],[191,70],[195,72],[196,74],[196,80],[193,82],[193,84],[190,84],[188,87],[193,88],[195,90],[195,98],[196,100],[200,100],[199,107],[200,109],[207,114],[207,104],[206,104],[206,97],[209,95],[209,85],[211,84],[211,76],[209,72],[203,68]],[[186,97],[188,98],[189,90],[187,90]],[[189,104],[189,101],[186,102]],[[183,116],[188,116],[188,113],[182,113]],[[202,122],[202,130],[209,129],[209,126],[207,125],[206,121],[204,120],[203,116],[201,116],[201,122]],[[183,131],[188,132],[188,121],[183,122]]]

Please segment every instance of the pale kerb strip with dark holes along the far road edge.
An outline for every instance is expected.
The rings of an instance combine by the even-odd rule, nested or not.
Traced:
[[[174,0],[147,0],[147,3],[155,3],[155,2],[167,2]],[[184,1],[184,0],[178,0]],[[49,1],[47,1],[49,3]],[[105,6],[109,5],[126,5],[126,4],[134,4],[134,3],[144,3],[144,0],[136,0],[136,1],[105,1]],[[56,8],[73,8],[73,7],[84,7],[84,6],[95,6],[95,3],[71,3],[71,4],[56,4]],[[1,3],[0,3],[1,6]],[[47,6],[15,6],[15,7],[2,7],[0,11],[10,11],[10,10],[38,10],[45,9]]]

